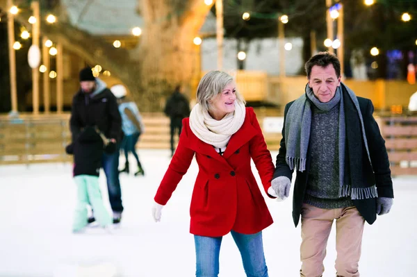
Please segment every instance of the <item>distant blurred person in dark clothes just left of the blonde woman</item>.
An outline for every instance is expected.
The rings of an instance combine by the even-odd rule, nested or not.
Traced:
[[[181,135],[182,119],[190,116],[190,103],[186,96],[181,93],[181,86],[175,87],[172,95],[165,103],[165,115],[170,117],[170,135],[171,135],[171,157],[174,156],[174,135]]]

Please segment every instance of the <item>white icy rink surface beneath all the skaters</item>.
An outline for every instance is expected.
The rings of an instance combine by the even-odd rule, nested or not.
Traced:
[[[188,209],[198,167],[192,163],[163,208],[162,221],[156,224],[150,211],[170,162],[169,152],[141,150],[140,159],[145,177],[122,174],[120,178],[125,211],[120,228],[112,235],[71,233],[76,187],[69,163],[1,166],[0,276],[195,276]],[[417,178],[393,181],[395,201],[391,213],[379,217],[373,226],[366,224],[361,276],[415,274]],[[108,205],[104,174],[100,182]],[[263,231],[269,276],[299,276],[300,226],[293,225],[291,198],[284,202],[267,199],[267,203],[275,220]],[[324,277],[335,276],[335,258],[332,232]],[[222,242],[220,276],[245,276],[231,235]]]

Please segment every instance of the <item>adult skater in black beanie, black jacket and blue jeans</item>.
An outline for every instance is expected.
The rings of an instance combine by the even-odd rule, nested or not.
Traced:
[[[80,72],[81,89],[72,99],[70,128],[72,141],[85,126],[97,126],[109,139],[108,149],[103,153],[102,166],[107,178],[108,198],[113,210],[113,222],[120,223],[123,212],[122,191],[119,181],[119,151],[116,151],[122,136],[122,119],[117,108],[117,100],[106,84],[92,75],[90,67]],[[94,215],[89,222],[95,221]]]

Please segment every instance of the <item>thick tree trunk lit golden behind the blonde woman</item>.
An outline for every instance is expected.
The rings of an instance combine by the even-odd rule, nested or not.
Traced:
[[[175,85],[188,96],[199,78],[197,46],[193,43],[211,6],[202,0],[140,0],[145,28],[137,57],[142,92],[137,101],[145,110],[161,110]]]

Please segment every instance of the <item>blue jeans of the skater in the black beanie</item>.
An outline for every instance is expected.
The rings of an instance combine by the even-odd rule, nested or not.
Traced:
[[[108,200],[113,212],[123,212],[122,190],[119,181],[119,150],[114,153],[103,153],[102,164],[107,178]]]

